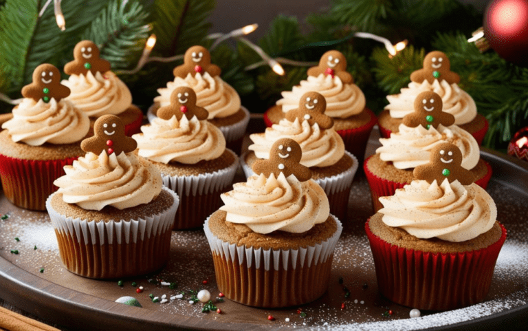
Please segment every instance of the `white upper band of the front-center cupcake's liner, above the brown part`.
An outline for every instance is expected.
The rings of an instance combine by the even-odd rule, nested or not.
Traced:
[[[292,266],[295,270],[297,261],[299,261],[301,268],[304,268],[305,264],[307,265],[307,268],[309,268],[311,264],[317,265],[325,263],[327,259],[331,257],[338,244],[338,239],[343,229],[338,218],[335,216],[333,216],[333,218],[338,224],[338,229],[331,237],[315,246],[307,246],[307,248],[300,247],[298,249],[264,250],[263,248],[255,249],[252,247],[230,244],[229,242],[223,241],[210,231],[209,217],[205,224],[203,224],[203,231],[206,233],[211,252],[216,253],[221,257],[225,257],[227,261],[239,261],[239,264],[242,265],[244,259],[246,259],[248,268],[251,268],[254,264],[256,269],[263,266],[265,270],[271,270],[273,266],[274,270],[279,270],[281,268],[280,256],[282,255],[282,268],[288,270],[289,266]]]

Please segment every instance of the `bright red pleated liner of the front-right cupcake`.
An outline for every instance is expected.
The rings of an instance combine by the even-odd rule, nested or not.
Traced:
[[[369,220],[365,231],[374,257],[377,286],[384,297],[423,310],[451,310],[483,301],[506,239],[502,224],[500,239],[486,248],[429,253],[385,242],[371,232]]]

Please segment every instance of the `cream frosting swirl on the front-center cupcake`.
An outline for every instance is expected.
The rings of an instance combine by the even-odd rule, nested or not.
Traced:
[[[299,182],[294,175],[281,173],[253,175],[248,182],[233,184],[233,190],[223,193],[225,220],[245,224],[256,233],[281,230],[303,233],[325,222],[330,205],[325,191],[314,180]]]

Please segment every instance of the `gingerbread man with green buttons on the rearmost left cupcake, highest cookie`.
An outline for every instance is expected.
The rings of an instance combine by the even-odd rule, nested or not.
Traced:
[[[64,72],[69,75],[104,74],[110,70],[110,63],[99,57],[99,47],[89,40],[79,41],[74,48],[74,61],[64,66]]]

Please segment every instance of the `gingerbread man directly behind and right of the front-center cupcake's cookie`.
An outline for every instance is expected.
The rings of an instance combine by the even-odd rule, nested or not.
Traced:
[[[299,122],[307,120],[311,125],[317,123],[323,130],[333,127],[333,120],[325,115],[327,110],[327,100],[317,92],[307,92],[300,97],[299,107],[286,113],[286,119],[294,122],[296,118]]]

